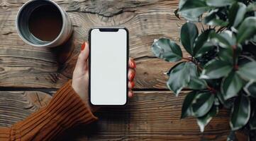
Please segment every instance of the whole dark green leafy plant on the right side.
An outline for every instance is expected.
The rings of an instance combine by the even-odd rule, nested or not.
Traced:
[[[155,39],[152,52],[177,62],[167,87],[176,96],[190,89],[181,118],[194,116],[201,132],[219,109],[230,109],[231,133],[256,129],[256,2],[253,0],[181,0],[174,12],[187,20],[180,41]],[[197,26],[196,26],[197,25]],[[200,27],[200,32],[198,27]],[[255,134],[255,132],[253,133]],[[249,135],[249,134],[248,134]],[[252,137],[253,135],[251,135]]]

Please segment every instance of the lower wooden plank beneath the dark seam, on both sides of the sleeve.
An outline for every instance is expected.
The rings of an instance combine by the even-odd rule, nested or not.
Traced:
[[[135,92],[128,106],[104,108],[99,121],[87,128],[68,130],[70,140],[226,140],[229,133],[226,110],[200,133],[194,118],[180,120],[182,102],[187,92],[175,97],[172,92]],[[31,95],[32,94],[32,95]],[[38,100],[36,95],[41,98]],[[33,98],[28,98],[33,97]],[[48,103],[43,92],[0,92],[0,125],[10,126]],[[35,104],[35,101],[39,101]],[[67,139],[65,138],[65,139]]]

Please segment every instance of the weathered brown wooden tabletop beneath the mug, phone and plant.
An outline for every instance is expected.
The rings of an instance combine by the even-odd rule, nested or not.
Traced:
[[[121,25],[130,30],[130,57],[137,63],[135,97],[126,108],[101,109],[96,114],[99,122],[68,130],[65,139],[226,140],[228,111],[221,111],[204,133],[194,118],[179,119],[187,92],[174,97],[167,90],[165,72],[174,63],[151,52],[155,38],[179,42],[185,20],[174,16],[178,0],[55,1],[71,17],[74,32],[66,44],[48,49],[31,47],[17,35],[16,13],[26,0],[0,0],[0,126],[9,127],[47,105],[52,94],[72,78],[90,27]]]

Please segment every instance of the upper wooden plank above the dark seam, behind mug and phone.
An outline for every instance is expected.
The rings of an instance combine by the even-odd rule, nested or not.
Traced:
[[[18,37],[15,18],[24,2],[0,4],[0,87],[61,87],[72,78],[77,54],[87,40],[89,28],[120,25],[130,30],[130,56],[138,63],[135,88],[167,88],[163,72],[174,63],[155,59],[150,47],[153,39],[159,37],[179,42],[179,27],[184,20],[178,20],[173,13],[178,0],[58,0],[57,4],[72,18],[74,33],[69,42],[54,49],[31,47]],[[185,51],[184,56],[188,56]]]

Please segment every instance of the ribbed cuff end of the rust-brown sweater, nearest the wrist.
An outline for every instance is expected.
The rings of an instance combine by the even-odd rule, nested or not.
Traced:
[[[57,91],[46,111],[54,115],[55,119],[65,127],[97,120],[79,95],[74,92],[72,80]]]

